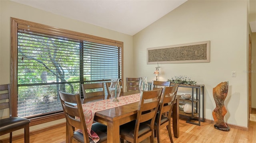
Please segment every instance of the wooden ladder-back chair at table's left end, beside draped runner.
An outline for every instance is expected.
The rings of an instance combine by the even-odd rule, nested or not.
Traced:
[[[94,143],[94,141],[89,138],[87,132],[86,121],[79,94],[70,94],[61,90],[59,90],[58,93],[66,118],[66,131],[68,132],[66,135],[68,136],[69,143]],[[76,117],[79,117],[79,119],[76,119]],[[74,131],[75,128],[78,130]],[[79,129],[82,130],[82,133]],[[100,137],[98,143],[106,143],[106,125],[98,122],[93,123],[92,131]]]

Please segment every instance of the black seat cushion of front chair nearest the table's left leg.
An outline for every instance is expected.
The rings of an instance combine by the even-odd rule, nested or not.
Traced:
[[[134,128],[136,120],[130,121],[124,125],[120,126],[120,135],[125,135],[131,138],[134,138]],[[146,123],[140,123],[138,136],[143,135],[144,133],[150,131],[150,126]]]

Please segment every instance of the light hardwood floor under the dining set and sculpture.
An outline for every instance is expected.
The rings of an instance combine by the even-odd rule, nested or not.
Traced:
[[[30,135],[30,143],[65,143],[65,127],[59,127]],[[201,122],[201,125],[192,125],[180,120],[180,137],[173,137],[174,143],[256,143],[256,121],[250,121],[248,131],[233,129],[220,131],[214,128],[213,123]],[[157,140],[154,139],[157,143]],[[170,143],[166,128],[161,130],[161,142]],[[24,139],[18,139],[13,143],[24,143]],[[142,143],[149,143],[149,139]]]

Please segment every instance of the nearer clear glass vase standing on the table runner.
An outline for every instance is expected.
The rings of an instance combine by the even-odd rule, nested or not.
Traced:
[[[109,90],[110,90],[111,101],[119,102],[118,97],[120,96],[120,92],[121,92],[121,88],[119,85],[119,78],[111,79]]]

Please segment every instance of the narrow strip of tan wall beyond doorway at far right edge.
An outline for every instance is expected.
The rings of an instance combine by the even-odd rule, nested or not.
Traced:
[[[252,108],[256,108],[256,32],[252,33]]]

